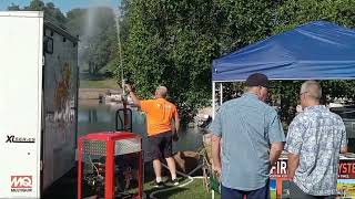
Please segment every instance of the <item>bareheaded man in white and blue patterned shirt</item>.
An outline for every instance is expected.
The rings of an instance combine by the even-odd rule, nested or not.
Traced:
[[[320,105],[321,85],[302,84],[304,108],[291,123],[285,150],[288,151],[291,198],[335,198],[339,153],[346,153],[342,118]]]

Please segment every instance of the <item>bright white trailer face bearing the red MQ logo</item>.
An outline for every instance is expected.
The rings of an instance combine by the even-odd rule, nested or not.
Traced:
[[[0,198],[39,198],[43,13],[0,12]]]

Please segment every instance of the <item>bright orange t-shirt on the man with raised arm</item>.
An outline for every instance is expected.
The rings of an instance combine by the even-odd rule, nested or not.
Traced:
[[[165,98],[141,101],[141,108],[146,114],[148,136],[171,130],[171,119],[178,114],[176,106]]]

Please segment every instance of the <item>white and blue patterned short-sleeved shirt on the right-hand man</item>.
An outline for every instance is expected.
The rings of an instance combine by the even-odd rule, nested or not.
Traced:
[[[341,147],[346,146],[343,119],[323,105],[306,107],[290,125],[285,150],[300,155],[293,181],[313,196],[336,195]]]

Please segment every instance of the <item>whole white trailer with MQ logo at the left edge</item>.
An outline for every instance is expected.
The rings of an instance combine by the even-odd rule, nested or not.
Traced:
[[[0,27],[0,198],[40,198],[75,164],[78,39],[38,11]]]

